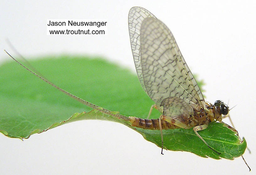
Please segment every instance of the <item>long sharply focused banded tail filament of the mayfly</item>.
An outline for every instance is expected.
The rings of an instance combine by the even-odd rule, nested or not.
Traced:
[[[86,106],[89,106],[89,107],[95,109],[95,110],[98,110],[98,111],[100,111],[100,112],[102,112],[102,113],[105,113],[105,114],[107,114],[107,115],[114,116],[114,117],[119,118],[119,119],[123,119],[123,120],[130,121],[130,118],[127,117],[127,116],[124,116],[124,115],[121,115],[121,114],[112,114],[111,111],[109,111],[109,110],[107,110],[107,109],[104,109],[104,108],[102,108],[102,107],[99,107],[99,106],[97,106],[97,105],[94,105],[94,104],[92,104],[92,103],[90,103],[90,102],[88,102],[88,101],[85,101],[85,100],[83,100],[83,99],[81,99],[81,98],[79,98],[79,97],[77,97],[77,96],[75,96],[75,95],[73,95],[73,94],[67,92],[66,90],[61,89],[60,87],[58,87],[58,86],[54,85],[53,83],[51,83],[49,80],[46,80],[46,79],[43,78],[42,76],[36,74],[36,73],[33,72],[32,70],[30,70],[29,68],[27,68],[26,66],[24,66],[23,64],[21,64],[21,63],[20,63],[18,60],[16,60],[12,55],[10,55],[6,50],[4,50],[4,51],[5,51],[13,60],[15,60],[15,61],[16,61],[17,63],[19,63],[22,67],[24,67],[25,69],[27,69],[29,72],[31,72],[32,74],[34,74],[35,76],[37,76],[37,77],[40,78],[41,80],[45,81],[45,82],[48,83],[49,85],[51,85],[51,86],[55,87],[56,89],[60,90],[60,91],[63,92],[64,94],[70,96],[71,98],[73,98],[73,99],[75,99],[75,100],[77,100],[77,101],[79,101],[79,102],[85,104]]]

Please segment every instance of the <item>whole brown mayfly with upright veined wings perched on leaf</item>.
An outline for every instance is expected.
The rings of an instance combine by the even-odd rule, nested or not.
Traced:
[[[85,101],[54,85],[39,73],[35,73],[21,64],[7,51],[5,52],[29,72],[73,99],[107,115],[130,121],[132,126],[160,130],[161,153],[163,153],[162,130],[193,128],[196,135],[212,151],[220,154],[209,146],[197,131],[207,128],[211,121],[221,121],[222,115],[228,114],[228,106],[221,100],[217,100],[214,105],[205,102],[172,33],[164,23],[141,7],[131,8],[128,22],[137,75],[145,92],[155,102],[150,109],[149,116],[152,109],[156,108],[162,113],[159,119],[141,119],[127,117],[119,113],[113,114],[107,109]],[[236,131],[231,126],[228,127]]]

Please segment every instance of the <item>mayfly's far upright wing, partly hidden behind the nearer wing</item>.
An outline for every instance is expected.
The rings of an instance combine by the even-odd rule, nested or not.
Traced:
[[[142,7],[133,7],[131,8],[128,16],[128,27],[130,33],[130,41],[131,41],[131,51],[137,71],[138,78],[141,82],[141,86],[147,92],[143,77],[142,77],[142,69],[141,69],[141,23],[145,18],[156,18],[152,13],[147,11]]]

